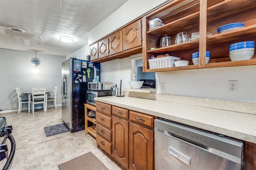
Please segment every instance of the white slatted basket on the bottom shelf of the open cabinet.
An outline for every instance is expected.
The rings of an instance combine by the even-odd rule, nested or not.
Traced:
[[[167,56],[167,57],[160,57],[157,59],[149,59],[149,68],[154,69],[154,68],[167,68],[167,67],[174,67],[174,61],[175,60],[180,60],[179,57],[174,57],[174,56]]]

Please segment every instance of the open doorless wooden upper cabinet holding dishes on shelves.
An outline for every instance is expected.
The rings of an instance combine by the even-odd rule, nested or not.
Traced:
[[[231,61],[229,46],[242,41],[256,41],[256,3],[250,0],[192,0],[169,1],[142,19],[142,45],[144,72],[188,70],[198,68],[216,68],[229,66],[256,65],[256,54],[253,59]],[[149,30],[149,21],[160,18],[164,25]],[[217,33],[217,28],[229,23],[242,22],[243,28]],[[200,32],[199,39],[175,44],[178,33],[186,31]],[[212,35],[206,37],[206,31]],[[160,38],[168,35],[171,45],[160,47]],[[151,50],[152,47],[156,49]],[[192,53],[199,51],[199,64],[192,63]],[[210,51],[210,61],[205,63],[206,51]],[[188,66],[150,69],[148,60],[151,56],[168,54],[188,60]]]

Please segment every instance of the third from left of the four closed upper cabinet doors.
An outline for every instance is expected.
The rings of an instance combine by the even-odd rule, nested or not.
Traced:
[[[113,55],[123,51],[123,31],[120,30],[109,36],[109,54]]]

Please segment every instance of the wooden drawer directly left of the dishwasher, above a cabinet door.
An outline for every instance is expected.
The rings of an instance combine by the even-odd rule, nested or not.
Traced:
[[[130,120],[152,128],[154,127],[154,116],[151,115],[130,111]]]

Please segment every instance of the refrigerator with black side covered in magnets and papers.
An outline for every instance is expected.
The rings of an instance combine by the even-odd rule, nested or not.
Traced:
[[[99,81],[100,63],[75,58],[62,63],[62,121],[71,133],[84,130],[86,90],[95,75]]]

